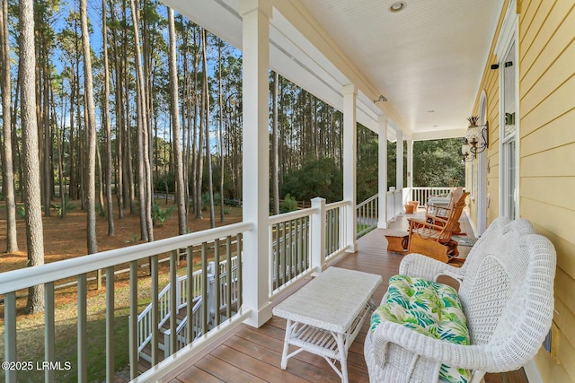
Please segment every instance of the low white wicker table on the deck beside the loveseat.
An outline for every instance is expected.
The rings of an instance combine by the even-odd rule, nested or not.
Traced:
[[[365,319],[376,309],[373,294],[380,275],[329,267],[273,309],[288,319],[281,368],[307,351],[322,356],[348,382],[348,351]],[[289,345],[298,347],[289,353]],[[340,361],[341,370],[335,365]]]

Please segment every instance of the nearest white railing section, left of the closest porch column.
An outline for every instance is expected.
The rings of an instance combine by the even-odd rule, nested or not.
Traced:
[[[161,321],[164,321],[164,327],[170,330],[167,353],[171,354],[175,352],[177,342],[181,341],[182,336],[190,343],[199,331],[202,335],[206,335],[209,329],[218,323],[235,320],[235,314],[242,306],[243,233],[251,231],[252,227],[252,223],[235,223],[208,231],[3,273],[0,295],[4,294],[4,361],[62,363],[77,361],[70,362],[70,369],[67,370],[39,370],[36,371],[36,375],[34,371],[26,371],[25,378],[31,381],[64,381],[71,377],[78,379],[85,377],[92,381],[105,378],[107,381],[114,381],[117,361],[129,364],[130,377],[136,378],[139,374],[137,335],[139,305],[142,300],[149,301],[150,296],[158,297],[160,293],[158,286],[161,283],[169,282],[170,285],[179,286],[180,289],[169,289],[164,292],[165,300],[153,299],[151,315],[146,319],[146,324],[142,325],[152,334],[148,344],[152,365],[164,357],[164,353],[160,353],[159,331],[151,330],[159,328]],[[196,268],[201,270],[200,282],[182,283],[181,279],[178,282],[181,249],[185,249],[186,265],[180,270],[186,274],[188,281],[193,281],[194,265],[196,265]],[[166,254],[170,257],[169,266],[162,266],[160,270],[158,259],[165,257]],[[233,257],[238,257],[237,262],[232,261]],[[143,269],[144,266],[148,266],[148,260],[151,262],[149,274]],[[212,260],[219,265],[220,273],[216,273],[218,281],[213,283],[215,290],[211,295],[216,300],[215,307],[224,309],[209,313],[207,306],[202,304],[197,308],[199,315],[192,315],[194,306],[199,304],[197,298],[208,296],[208,264]],[[226,265],[222,265],[223,263]],[[127,265],[130,270],[128,280],[121,275],[115,275],[115,270],[125,268]],[[89,299],[88,292],[93,286],[86,282],[86,275],[93,274],[99,269],[106,271],[106,300],[96,307],[93,300]],[[226,275],[230,274],[235,281],[227,283]],[[77,296],[78,309],[70,318],[74,322],[77,321],[77,330],[72,333],[66,330],[70,319],[64,320],[58,317],[60,312],[59,308],[56,309],[54,293],[56,282],[68,282],[70,279],[78,281],[77,290],[66,292],[66,296]],[[44,328],[40,327],[37,330],[25,327],[23,321],[18,323],[16,321],[16,308],[22,307],[20,297],[35,284],[44,285],[46,291],[46,309],[43,314],[45,325]],[[177,306],[185,307],[187,317],[199,318],[188,321],[187,325],[184,325],[187,326],[186,330],[180,335],[176,332],[181,325],[177,316],[167,314],[170,308]],[[30,336],[32,331],[39,331],[40,339],[45,335],[46,347],[44,344],[26,346],[28,343],[23,340]],[[104,334],[105,336],[102,336]],[[96,339],[102,339],[100,344],[94,344]],[[74,351],[68,353],[68,350]],[[106,355],[106,361],[101,361],[101,355]],[[90,370],[94,370],[95,364],[102,365],[102,370],[96,372],[102,375],[88,377],[88,365]],[[19,373],[17,370],[4,371],[7,382],[17,381],[21,374],[22,372]],[[23,377],[24,375],[20,378]]]

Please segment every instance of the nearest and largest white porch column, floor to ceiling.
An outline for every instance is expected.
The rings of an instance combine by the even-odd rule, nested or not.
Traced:
[[[269,80],[271,5],[241,0],[243,17],[243,221],[254,224],[243,236],[243,307],[250,326],[271,318]]]

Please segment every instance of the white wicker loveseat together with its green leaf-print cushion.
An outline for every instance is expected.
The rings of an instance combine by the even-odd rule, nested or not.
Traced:
[[[404,257],[367,331],[370,381],[477,383],[485,372],[521,368],[551,327],[555,266],[549,239],[526,220],[503,217],[461,268],[418,254]],[[438,283],[439,275],[456,279],[458,291]],[[411,284],[394,290],[397,281]]]

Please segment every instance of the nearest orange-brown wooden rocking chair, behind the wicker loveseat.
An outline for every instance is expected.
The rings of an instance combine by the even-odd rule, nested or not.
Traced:
[[[464,193],[448,212],[447,219],[435,215],[431,222],[410,220],[409,253],[419,253],[441,262],[449,262],[459,255],[457,242],[451,239],[459,231],[459,218],[465,207]],[[428,218],[429,219],[429,218]]]

